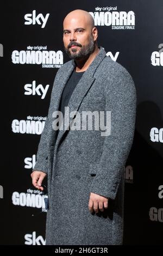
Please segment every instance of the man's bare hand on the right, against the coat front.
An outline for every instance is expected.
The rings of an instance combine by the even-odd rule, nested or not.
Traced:
[[[104,209],[108,208],[108,200],[107,197],[99,196],[99,194],[92,193],[90,194],[89,200],[89,210],[93,212],[93,210],[97,213],[98,209],[100,211],[104,211]]]

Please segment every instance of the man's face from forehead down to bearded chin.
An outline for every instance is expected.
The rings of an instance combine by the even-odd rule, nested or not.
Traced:
[[[65,19],[63,41],[65,51],[71,59],[82,59],[95,50],[91,25],[87,25],[84,18]]]

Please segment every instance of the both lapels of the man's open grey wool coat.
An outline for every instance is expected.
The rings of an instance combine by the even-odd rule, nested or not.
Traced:
[[[70,101],[68,102],[69,114],[72,111],[78,111],[84,96],[87,94],[89,88],[92,86],[92,83],[95,81],[95,77],[93,77],[95,74],[95,71],[105,56],[106,56],[106,52],[105,52],[104,48],[100,47],[100,51],[98,52],[96,58],[93,60],[93,62],[89,66],[89,68],[84,72],[82,78],[79,80],[77,86],[73,90]],[[75,66],[76,66],[76,64],[75,64],[74,60],[72,60],[71,67],[70,67],[70,69],[67,70],[67,75],[61,84],[58,94],[55,96],[56,97],[56,99],[55,99],[56,100],[56,103],[55,103],[56,109],[59,108],[59,102],[61,99],[62,91],[63,91],[65,84],[66,84],[68,78],[70,77],[71,72],[73,71]],[[64,136],[64,133],[66,132],[66,130],[68,130],[69,125],[71,125],[72,120],[70,119],[69,123],[66,124],[65,118],[66,118],[66,114],[65,114],[65,117],[62,122],[64,129],[59,130],[59,132],[58,132],[57,141],[55,143],[55,150],[58,149],[62,136]],[[66,125],[64,125],[64,124],[66,124]]]

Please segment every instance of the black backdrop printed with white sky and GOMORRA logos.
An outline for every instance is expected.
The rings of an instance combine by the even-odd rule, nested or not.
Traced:
[[[1,3],[1,245],[45,245],[46,193],[30,173],[55,74],[69,59],[62,21],[89,11],[98,45],[131,74],[135,137],[126,163],[124,245],[162,244],[163,1],[5,1]]]

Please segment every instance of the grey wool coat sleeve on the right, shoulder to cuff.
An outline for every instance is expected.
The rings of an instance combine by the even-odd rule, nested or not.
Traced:
[[[133,143],[136,92],[134,81],[126,69],[116,72],[111,86],[109,78],[106,83],[105,111],[111,111],[111,133],[104,139],[102,156],[90,192],[115,199]]]

